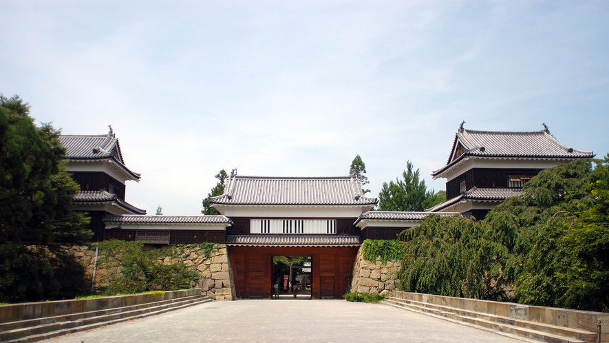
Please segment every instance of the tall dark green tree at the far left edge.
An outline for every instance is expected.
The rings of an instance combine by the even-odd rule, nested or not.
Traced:
[[[79,280],[58,278],[61,268],[78,266],[52,243],[92,236],[85,228],[89,219],[73,211],[79,187],[65,171],[59,131],[50,124],[36,127],[29,113],[19,96],[0,94],[0,301],[72,295],[70,284],[82,282],[83,274]]]

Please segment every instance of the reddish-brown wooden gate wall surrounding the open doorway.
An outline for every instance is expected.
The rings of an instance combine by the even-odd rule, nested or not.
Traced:
[[[358,247],[229,246],[237,298],[268,298],[272,292],[273,256],[311,256],[311,297],[342,298]]]

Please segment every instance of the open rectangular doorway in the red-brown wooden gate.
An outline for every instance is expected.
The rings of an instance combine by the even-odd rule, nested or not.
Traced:
[[[312,256],[273,256],[273,299],[312,298]]]

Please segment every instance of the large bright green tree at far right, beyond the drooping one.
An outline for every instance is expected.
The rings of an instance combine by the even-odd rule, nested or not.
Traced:
[[[489,213],[518,302],[609,311],[609,158],[546,169]]]

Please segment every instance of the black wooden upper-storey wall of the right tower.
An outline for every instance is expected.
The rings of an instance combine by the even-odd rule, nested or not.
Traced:
[[[539,174],[539,171],[542,170],[543,169],[470,169],[446,183],[446,198],[451,199],[461,194],[459,184],[463,180],[465,180],[465,186],[468,190],[474,186],[478,188],[508,188],[509,175],[536,176]]]

